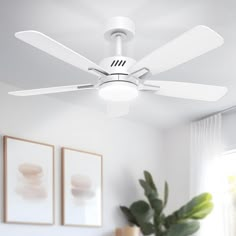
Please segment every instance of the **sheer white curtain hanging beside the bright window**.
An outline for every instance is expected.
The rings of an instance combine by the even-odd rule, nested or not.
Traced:
[[[201,221],[198,236],[223,236],[223,178],[220,168],[222,153],[221,114],[191,124],[191,197],[210,192],[213,195],[214,210]]]

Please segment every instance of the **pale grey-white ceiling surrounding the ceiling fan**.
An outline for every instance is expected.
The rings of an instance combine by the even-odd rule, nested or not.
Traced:
[[[229,89],[223,99],[214,103],[144,94],[134,101],[127,119],[169,127],[236,105],[235,0],[0,0],[0,6],[1,82],[29,89],[95,81],[96,77],[15,39],[14,33],[41,31],[99,62],[112,55],[111,45],[103,38],[104,24],[110,17],[121,15],[136,24],[135,39],[126,45],[126,53],[137,60],[196,25],[216,30],[225,39],[223,47],[153,79],[223,85]],[[95,92],[52,96],[105,110]]]

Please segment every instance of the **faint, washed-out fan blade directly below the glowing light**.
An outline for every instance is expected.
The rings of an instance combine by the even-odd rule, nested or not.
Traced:
[[[118,118],[125,116],[129,113],[129,102],[108,102],[107,103],[107,115],[110,118]]]

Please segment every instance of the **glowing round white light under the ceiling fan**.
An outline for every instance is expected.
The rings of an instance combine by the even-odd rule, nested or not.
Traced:
[[[135,84],[129,82],[108,82],[100,86],[99,96],[113,102],[130,101],[138,96],[138,89]]]

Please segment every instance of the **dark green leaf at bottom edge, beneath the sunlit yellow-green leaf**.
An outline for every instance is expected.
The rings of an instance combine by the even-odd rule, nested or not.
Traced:
[[[185,222],[172,225],[166,236],[188,236],[197,232],[200,228],[198,221]]]

